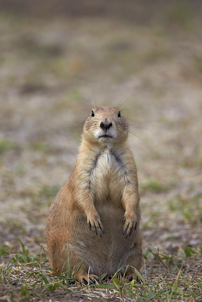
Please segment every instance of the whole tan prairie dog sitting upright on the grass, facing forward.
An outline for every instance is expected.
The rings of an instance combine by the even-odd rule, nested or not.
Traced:
[[[50,266],[66,271],[69,255],[70,270],[76,271],[83,260],[78,282],[114,275],[121,259],[120,267],[141,269],[138,179],[128,133],[119,108],[93,108],[83,125],[76,166],[48,211]],[[126,276],[137,278],[134,268],[128,267]]]

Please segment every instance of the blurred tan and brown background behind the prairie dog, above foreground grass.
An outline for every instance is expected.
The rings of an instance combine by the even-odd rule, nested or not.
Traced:
[[[120,107],[141,138],[144,250],[201,245],[201,1],[2,0],[0,239],[43,244],[45,215],[73,171],[88,101]],[[85,101],[84,99],[87,101]]]

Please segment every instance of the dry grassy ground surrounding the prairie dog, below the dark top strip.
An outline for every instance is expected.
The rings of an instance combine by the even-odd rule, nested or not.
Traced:
[[[191,4],[177,3],[147,22],[1,12],[1,301],[201,300],[201,29]],[[138,5],[146,18],[149,8]],[[52,274],[42,248],[47,209],[75,165],[74,122],[89,114],[82,97],[93,102],[92,90],[98,105],[116,106],[125,94],[122,114],[149,129],[131,128],[143,142],[129,138],[142,209],[139,284],[119,275],[98,288],[68,284],[72,276]]]

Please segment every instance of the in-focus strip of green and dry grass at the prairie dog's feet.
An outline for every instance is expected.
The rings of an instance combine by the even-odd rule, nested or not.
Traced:
[[[53,298],[53,294],[57,300],[62,301],[67,293],[77,293],[82,299],[86,296],[93,300],[112,299],[113,297],[119,297],[121,301],[133,301],[134,299],[136,301],[201,300],[202,247],[200,249],[185,247],[181,253],[175,256],[171,253],[160,254],[158,250],[154,252],[148,248],[144,253],[143,274],[136,271],[140,278],[138,283],[135,280],[128,282],[121,278],[119,268],[117,268],[117,272],[112,278],[105,279],[105,276],[102,275],[101,284],[81,286],[74,281],[76,269],[71,274],[67,264],[67,271],[62,275],[57,275],[48,268],[43,249],[41,255],[29,255],[21,241],[20,244],[21,254],[2,257],[2,264],[5,266],[1,270],[1,284],[3,288],[10,288],[10,293],[5,295],[7,301],[13,300],[13,284],[20,284],[18,299],[21,297],[22,300],[30,301],[33,299],[44,301],[47,299],[47,295]],[[7,254],[7,251],[1,249],[1,253]],[[11,259],[8,262],[9,258]],[[149,268],[147,269],[147,267]],[[78,297],[71,297],[73,301],[77,301],[76,298]]]

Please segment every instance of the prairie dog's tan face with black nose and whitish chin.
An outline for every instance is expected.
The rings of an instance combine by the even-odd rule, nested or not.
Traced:
[[[127,137],[128,124],[116,107],[93,108],[83,125],[83,138],[91,143],[108,145]]]

